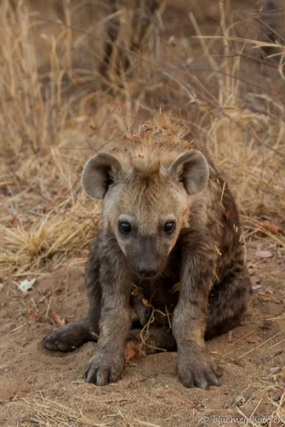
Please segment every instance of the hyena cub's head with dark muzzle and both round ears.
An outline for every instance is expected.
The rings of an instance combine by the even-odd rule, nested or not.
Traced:
[[[206,159],[191,149],[163,166],[161,159],[124,162],[101,152],[87,162],[82,182],[89,196],[103,199],[103,228],[115,234],[130,269],[153,278],[188,225],[191,196],[208,178]]]

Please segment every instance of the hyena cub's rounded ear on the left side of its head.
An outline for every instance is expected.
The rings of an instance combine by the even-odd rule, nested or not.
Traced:
[[[110,184],[120,173],[122,166],[109,153],[98,153],[86,163],[82,173],[82,185],[88,196],[103,199]]]

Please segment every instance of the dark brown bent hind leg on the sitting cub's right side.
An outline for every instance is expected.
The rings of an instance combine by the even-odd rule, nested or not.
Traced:
[[[224,334],[240,324],[252,294],[249,273],[244,264],[229,269],[222,282],[209,295],[209,313],[205,339]]]

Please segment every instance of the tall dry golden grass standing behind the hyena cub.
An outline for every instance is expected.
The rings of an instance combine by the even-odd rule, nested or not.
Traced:
[[[113,16],[105,8],[80,28],[84,3],[43,14],[28,1],[1,2],[0,275],[38,275],[81,256],[100,223],[100,204],[81,189],[86,159],[160,107],[207,141],[243,214],[281,216],[284,44],[267,43],[276,60],[261,59],[262,43],[249,38],[254,15],[231,17],[223,1],[219,26],[204,26],[190,11],[191,40],[173,30],[170,41],[162,4],[138,53],[130,46],[132,11],[122,9],[105,78],[98,66]],[[119,52],[131,72],[117,72]]]

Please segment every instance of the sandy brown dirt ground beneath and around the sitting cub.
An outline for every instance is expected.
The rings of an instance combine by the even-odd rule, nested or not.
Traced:
[[[208,343],[223,369],[221,386],[208,391],[177,381],[175,353],[131,359],[121,381],[97,387],[82,379],[95,343],[69,354],[43,349],[43,337],[55,327],[51,310],[68,322],[86,313],[82,264],[43,275],[26,294],[6,283],[0,293],[0,425],[254,426],[271,417],[269,426],[285,426],[285,258],[267,239],[247,249],[252,301],[241,326]],[[260,251],[271,258],[260,258]],[[252,423],[245,416],[253,416]],[[227,417],[240,423],[226,423]]]

